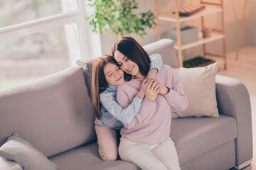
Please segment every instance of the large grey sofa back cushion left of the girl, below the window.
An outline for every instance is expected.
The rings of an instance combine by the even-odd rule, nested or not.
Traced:
[[[13,132],[46,157],[96,139],[82,69],[0,91],[0,146]]]

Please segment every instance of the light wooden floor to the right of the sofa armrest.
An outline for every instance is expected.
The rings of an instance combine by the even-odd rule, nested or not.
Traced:
[[[235,51],[229,52],[227,54],[227,63],[228,68],[225,70],[223,64],[220,65],[217,74],[242,81],[250,94],[254,156],[252,166],[247,167],[246,170],[256,170],[256,47],[241,48],[238,60],[235,60]]]

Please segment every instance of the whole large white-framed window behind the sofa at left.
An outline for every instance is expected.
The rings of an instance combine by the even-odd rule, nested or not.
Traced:
[[[0,0],[0,89],[100,56],[84,6],[83,0]]]

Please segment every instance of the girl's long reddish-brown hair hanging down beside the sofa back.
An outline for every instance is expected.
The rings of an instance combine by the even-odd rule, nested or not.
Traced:
[[[92,108],[97,119],[102,118],[100,94],[107,89],[104,67],[109,62],[117,64],[111,55],[103,55],[92,64]]]

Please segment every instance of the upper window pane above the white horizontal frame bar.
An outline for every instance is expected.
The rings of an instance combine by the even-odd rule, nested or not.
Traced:
[[[0,28],[77,10],[75,0],[1,0]]]

